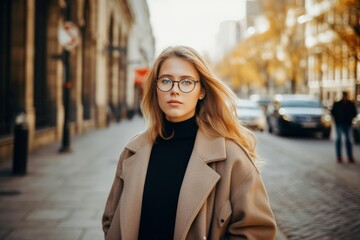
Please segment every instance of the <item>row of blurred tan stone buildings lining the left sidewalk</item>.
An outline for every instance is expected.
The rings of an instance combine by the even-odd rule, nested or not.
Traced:
[[[0,159],[11,157],[14,120],[21,112],[30,151],[62,138],[64,64],[58,30],[65,11],[80,37],[67,66],[71,134],[106,127],[136,108],[131,61],[147,67],[154,54],[146,0],[0,1]],[[139,21],[145,31],[134,38]],[[146,52],[147,61],[137,59],[138,52]]]

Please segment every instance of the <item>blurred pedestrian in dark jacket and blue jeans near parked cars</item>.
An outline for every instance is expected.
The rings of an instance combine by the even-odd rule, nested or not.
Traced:
[[[350,130],[352,119],[356,116],[355,104],[349,100],[349,93],[344,91],[342,93],[342,99],[333,104],[331,109],[331,115],[334,117],[336,125],[336,160],[338,163],[342,163],[342,135],[345,136],[346,154],[350,163],[355,163],[355,159],[352,152],[352,143],[350,140]]]

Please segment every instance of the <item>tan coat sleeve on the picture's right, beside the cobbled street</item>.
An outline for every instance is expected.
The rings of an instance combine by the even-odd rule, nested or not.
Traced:
[[[230,196],[232,216],[228,239],[275,239],[276,223],[269,199],[256,167],[251,166]]]

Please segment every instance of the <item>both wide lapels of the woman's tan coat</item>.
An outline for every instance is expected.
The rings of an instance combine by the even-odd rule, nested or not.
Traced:
[[[150,132],[135,136],[125,147],[134,153],[123,164],[123,195],[120,201],[120,228],[123,239],[137,239],[141,216],[142,194],[152,149]],[[208,163],[226,158],[225,139],[207,136],[198,130],[180,189],[174,239],[185,239],[201,206],[215,187],[220,175]]]

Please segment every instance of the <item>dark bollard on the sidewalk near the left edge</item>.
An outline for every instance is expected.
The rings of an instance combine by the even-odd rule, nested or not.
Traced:
[[[14,127],[13,174],[26,175],[29,129],[25,113],[16,117]]]

